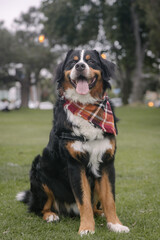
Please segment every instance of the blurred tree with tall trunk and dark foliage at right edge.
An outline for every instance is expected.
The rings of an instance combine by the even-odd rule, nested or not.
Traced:
[[[136,39],[136,68],[131,95],[134,102],[142,100],[147,84],[147,81],[143,79],[144,73],[155,74],[151,77],[151,81],[156,79],[156,74],[159,73],[159,11],[160,4],[157,1],[147,0],[144,3],[132,0],[131,13]]]

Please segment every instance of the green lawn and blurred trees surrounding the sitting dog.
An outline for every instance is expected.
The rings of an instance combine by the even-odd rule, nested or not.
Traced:
[[[40,109],[53,108],[55,69],[71,48],[96,49],[118,66],[108,93],[120,119],[116,202],[131,232],[111,233],[96,218],[87,238],[160,239],[159,12],[153,0],[47,0],[24,9],[12,27],[0,16],[0,239],[79,238],[78,218],[46,224],[15,200],[48,142],[53,114]]]

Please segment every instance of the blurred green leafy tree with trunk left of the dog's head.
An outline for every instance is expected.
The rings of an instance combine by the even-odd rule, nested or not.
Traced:
[[[38,37],[41,33],[41,15],[36,8],[30,8],[27,13],[22,13],[19,19],[15,20],[16,32],[10,33],[0,25],[0,80],[6,83],[11,81],[8,74],[10,64],[21,63],[19,69],[21,74],[17,74],[13,81],[21,82],[22,106],[28,106],[29,88],[31,85],[31,74],[34,74],[34,83],[40,80],[42,68],[50,70],[55,61],[55,55],[47,42],[39,43]],[[20,76],[23,75],[23,78]]]

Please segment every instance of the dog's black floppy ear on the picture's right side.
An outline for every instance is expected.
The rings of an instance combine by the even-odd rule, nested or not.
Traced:
[[[114,63],[102,58],[101,55],[96,50],[94,50],[94,51],[97,54],[100,64],[101,64],[102,78],[106,82],[107,87],[111,88],[110,83],[108,81],[110,80],[110,78],[115,77],[116,65]]]

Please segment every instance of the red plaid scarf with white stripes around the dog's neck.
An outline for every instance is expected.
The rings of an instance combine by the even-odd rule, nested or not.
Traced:
[[[106,94],[102,100],[86,105],[65,99],[64,107],[104,132],[116,135],[113,112]]]

